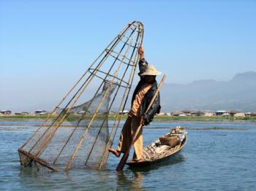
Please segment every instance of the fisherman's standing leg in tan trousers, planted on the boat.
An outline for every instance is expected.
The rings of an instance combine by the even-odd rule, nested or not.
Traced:
[[[138,127],[140,126],[140,117],[132,117],[132,134],[136,132]],[[138,133],[138,138],[135,140],[135,144],[133,145],[135,148],[135,152],[133,154],[133,160],[142,160],[142,154],[143,154],[143,136],[142,136],[142,129],[140,128],[140,131]]]

